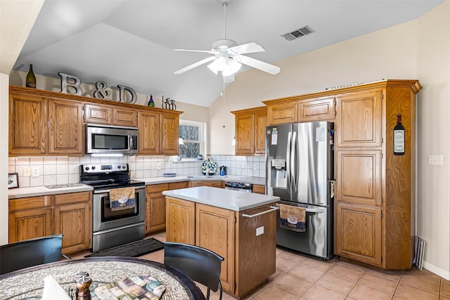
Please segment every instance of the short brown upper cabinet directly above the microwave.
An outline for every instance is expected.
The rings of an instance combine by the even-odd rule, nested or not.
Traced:
[[[138,110],[113,105],[84,104],[84,122],[116,126],[138,126]]]

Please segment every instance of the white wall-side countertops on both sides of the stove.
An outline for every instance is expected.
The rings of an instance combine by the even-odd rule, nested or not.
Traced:
[[[133,178],[133,179],[144,181],[146,185],[158,183],[171,183],[179,181],[234,181],[259,185],[266,184],[266,179],[262,177],[234,176],[234,175],[209,176],[209,177],[201,175],[179,175],[175,177],[149,177],[149,178]],[[16,199],[42,195],[76,193],[76,192],[84,192],[86,190],[93,190],[93,188],[90,185],[79,185],[65,188],[46,188],[44,185],[41,185],[41,186],[33,186],[30,188],[13,188],[11,190],[8,190],[8,198]]]

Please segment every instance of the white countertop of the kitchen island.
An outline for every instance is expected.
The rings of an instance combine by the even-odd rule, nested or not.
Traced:
[[[165,190],[163,195],[188,200],[196,203],[243,211],[260,207],[280,200],[280,197],[268,196],[256,193],[244,193],[238,190],[226,190],[224,188],[212,188],[210,186],[198,186],[195,188],[180,188],[179,190]]]

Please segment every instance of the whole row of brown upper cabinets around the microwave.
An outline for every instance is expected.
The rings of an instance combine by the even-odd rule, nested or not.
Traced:
[[[178,154],[180,111],[9,87],[10,156],[84,155],[84,124],[139,128],[139,155]]]

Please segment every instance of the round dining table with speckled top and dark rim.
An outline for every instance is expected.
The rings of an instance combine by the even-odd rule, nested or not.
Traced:
[[[80,271],[91,276],[91,290],[130,276],[151,275],[166,287],[162,300],[205,299],[195,282],[179,270],[156,261],[116,256],[58,261],[0,275],[0,299],[41,299],[47,275],[65,291],[76,289],[74,278]]]

